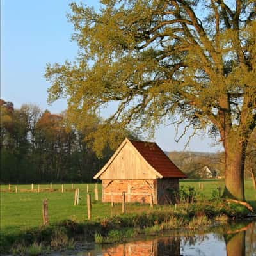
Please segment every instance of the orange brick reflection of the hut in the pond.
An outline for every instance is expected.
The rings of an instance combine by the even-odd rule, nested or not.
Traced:
[[[181,256],[180,237],[165,237],[152,241],[134,241],[104,248],[103,256]]]

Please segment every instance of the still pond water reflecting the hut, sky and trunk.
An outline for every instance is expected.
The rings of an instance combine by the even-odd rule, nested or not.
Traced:
[[[91,247],[91,248],[90,248]],[[80,244],[76,252],[63,255],[79,256],[256,256],[256,221],[236,223],[214,232],[173,233],[143,237],[123,244],[97,246]]]

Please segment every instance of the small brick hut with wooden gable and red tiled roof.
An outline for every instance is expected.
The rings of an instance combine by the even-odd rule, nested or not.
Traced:
[[[179,192],[179,179],[186,178],[156,143],[125,139],[94,179],[102,180],[102,202],[170,204]]]

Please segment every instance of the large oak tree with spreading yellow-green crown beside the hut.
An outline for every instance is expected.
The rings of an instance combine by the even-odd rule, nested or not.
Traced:
[[[180,116],[194,129],[211,125],[225,148],[224,196],[244,200],[256,125],[255,1],[101,3],[99,12],[71,4],[77,61],[47,65],[49,101],[67,97],[74,115],[117,102],[106,124],[154,129]]]

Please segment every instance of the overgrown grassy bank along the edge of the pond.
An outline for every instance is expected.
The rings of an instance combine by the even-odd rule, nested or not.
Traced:
[[[248,215],[250,212],[243,205],[218,200],[204,202],[204,205],[180,204],[176,210],[170,206],[142,214],[123,214],[80,223],[66,220],[13,236],[1,234],[0,252],[36,255],[36,252],[72,248],[76,238],[81,236],[86,241],[116,243],[143,234],[157,234],[162,230],[198,230]]]

